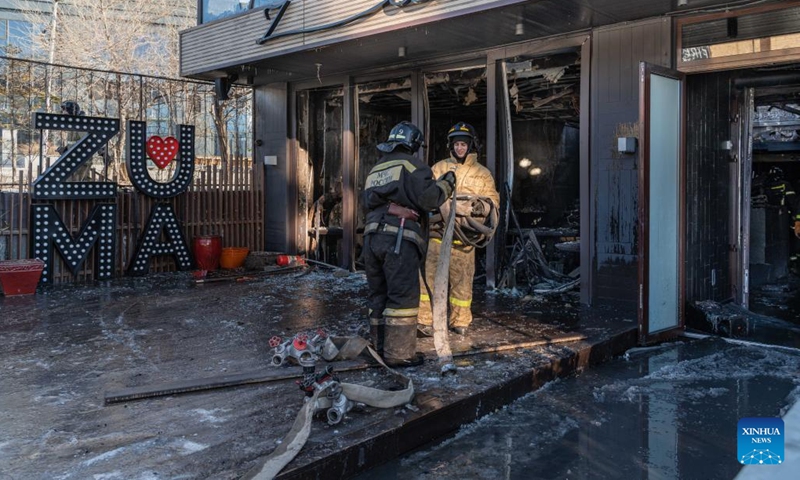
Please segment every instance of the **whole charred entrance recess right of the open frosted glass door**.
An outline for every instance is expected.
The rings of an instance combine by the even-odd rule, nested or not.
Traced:
[[[687,96],[687,300],[793,320],[800,65],[689,75]]]

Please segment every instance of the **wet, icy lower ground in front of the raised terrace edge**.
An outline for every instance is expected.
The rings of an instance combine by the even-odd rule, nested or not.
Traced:
[[[634,348],[357,478],[731,479],[737,422],[786,415],[799,366],[800,350],[715,337]],[[746,478],[797,478],[796,465]]]

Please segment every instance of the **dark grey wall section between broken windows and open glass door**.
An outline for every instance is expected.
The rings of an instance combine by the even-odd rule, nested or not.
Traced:
[[[592,38],[592,180],[595,301],[636,308],[638,292],[637,163],[616,151],[618,136],[638,136],[639,62],[669,67],[671,20],[596,29]]]

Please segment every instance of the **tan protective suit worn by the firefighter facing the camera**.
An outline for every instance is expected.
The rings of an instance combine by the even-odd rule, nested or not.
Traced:
[[[470,153],[464,159],[464,163],[459,163],[454,157],[437,162],[433,166],[433,173],[438,178],[448,170],[452,170],[456,174],[456,221],[464,222],[462,227],[466,227],[469,219],[479,220],[481,222],[492,218],[490,212],[481,211],[474,215],[473,218],[471,211],[474,208],[474,201],[462,202],[459,198],[481,197],[487,199],[488,202],[481,201],[481,203],[491,203],[491,208],[494,210],[494,218],[500,204],[500,195],[497,193],[497,188],[494,184],[494,178],[491,172],[478,163],[477,153]],[[446,202],[449,204],[449,202]],[[465,211],[459,214],[460,209]],[[444,222],[441,216],[434,215],[431,218],[431,239],[428,245],[428,254],[425,258],[425,276],[428,286],[432,291],[437,288],[433,284],[436,276],[436,266],[439,261],[439,252],[442,248],[441,245],[441,232],[444,230]],[[491,236],[494,232],[494,227],[490,228],[488,235]],[[457,225],[458,227],[458,225]],[[448,324],[451,327],[468,327],[472,323],[472,280],[475,274],[475,247],[473,244],[465,243],[464,240],[456,238],[453,241],[452,250],[450,252],[450,275],[449,275],[449,291],[448,302],[450,304],[450,319]],[[433,322],[430,296],[427,289],[422,285],[420,289],[420,302],[418,322],[422,325],[431,325]]]

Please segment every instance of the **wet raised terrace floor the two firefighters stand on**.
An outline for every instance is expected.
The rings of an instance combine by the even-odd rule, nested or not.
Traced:
[[[332,270],[205,285],[190,273],[159,274],[0,297],[0,479],[239,478],[289,429],[303,398],[293,381],[115,405],[105,405],[104,394],[271,369],[273,335],[320,327],[348,335],[364,324],[365,297],[363,275]],[[466,355],[458,374],[444,378],[432,340],[421,341],[429,360],[405,369],[417,388],[413,405],[359,409],[335,427],[315,420],[284,476],[363,471],[635,340],[632,318],[576,305],[574,293],[478,292],[474,328],[452,338],[455,351],[584,339]],[[341,379],[396,386],[378,368]]]

